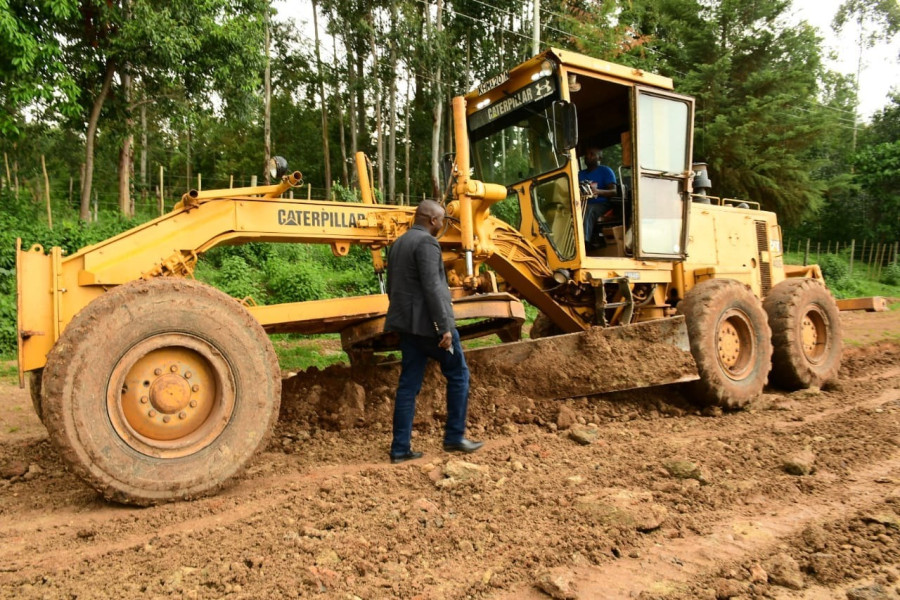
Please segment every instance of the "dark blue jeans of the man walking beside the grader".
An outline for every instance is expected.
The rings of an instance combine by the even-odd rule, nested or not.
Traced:
[[[469,367],[459,343],[459,332],[453,330],[453,353],[438,346],[440,338],[423,337],[409,333],[400,334],[400,352],[403,355],[400,381],[394,398],[394,440],[391,456],[410,452],[413,416],[416,412],[416,396],[422,389],[425,366],[433,358],[441,365],[441,373],[447,378],[447,424],[444,443],[458,444],[466,432],[466,413],[469,407]]]

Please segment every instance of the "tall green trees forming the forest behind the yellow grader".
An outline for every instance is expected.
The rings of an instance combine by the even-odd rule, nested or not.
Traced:
[[[532,5],[518,0],[307,7],[295,23],[266,0],[0,0],[4,185],[36,197],[46,155],[56,202],[85,220],[95,203],[152,214],[160,168],[169,206],[197,185],[247,185],[265,159],[268,65],[272,152],[319,193],[332,180],[341,193],[363,150],[380,197],[409,202],[441,187],[449,99],[532,51]],[[898,203],[896,98],[853,148],[856,80],[826,68],[817,32],[790,11],[788,0],[545,0],[541,41],[660,72],[694,96],[694,157],[717,195],[798,231],[896,239],[896,213],[876,217]],[[866,44],[898,23],[885,0],[847,0],[835,16]]]

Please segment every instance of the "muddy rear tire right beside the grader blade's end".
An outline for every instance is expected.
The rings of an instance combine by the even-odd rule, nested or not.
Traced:
[[[762,303],[732,279],[696,285],[678,303],[700,380],[692,387],[707,405],[736,409],[762,392],[772,367],[772,342]]]

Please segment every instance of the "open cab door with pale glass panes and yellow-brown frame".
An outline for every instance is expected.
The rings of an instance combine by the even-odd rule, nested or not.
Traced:
[[[694,99],[635,87],[634,256],[683,260],[693,172]]]

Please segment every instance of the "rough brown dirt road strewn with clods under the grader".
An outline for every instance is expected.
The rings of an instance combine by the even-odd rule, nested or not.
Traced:
[[[737,413],[672,386],[538,402],[473,382],[487,443],[465,459],[439,402],[425,457],[392,466],[389,388],[311,414],[288,380],[235,485],[146,509],[67,473],[4,385],[0,597],[898,598],[900,311],[842,317],[839,382]]]

